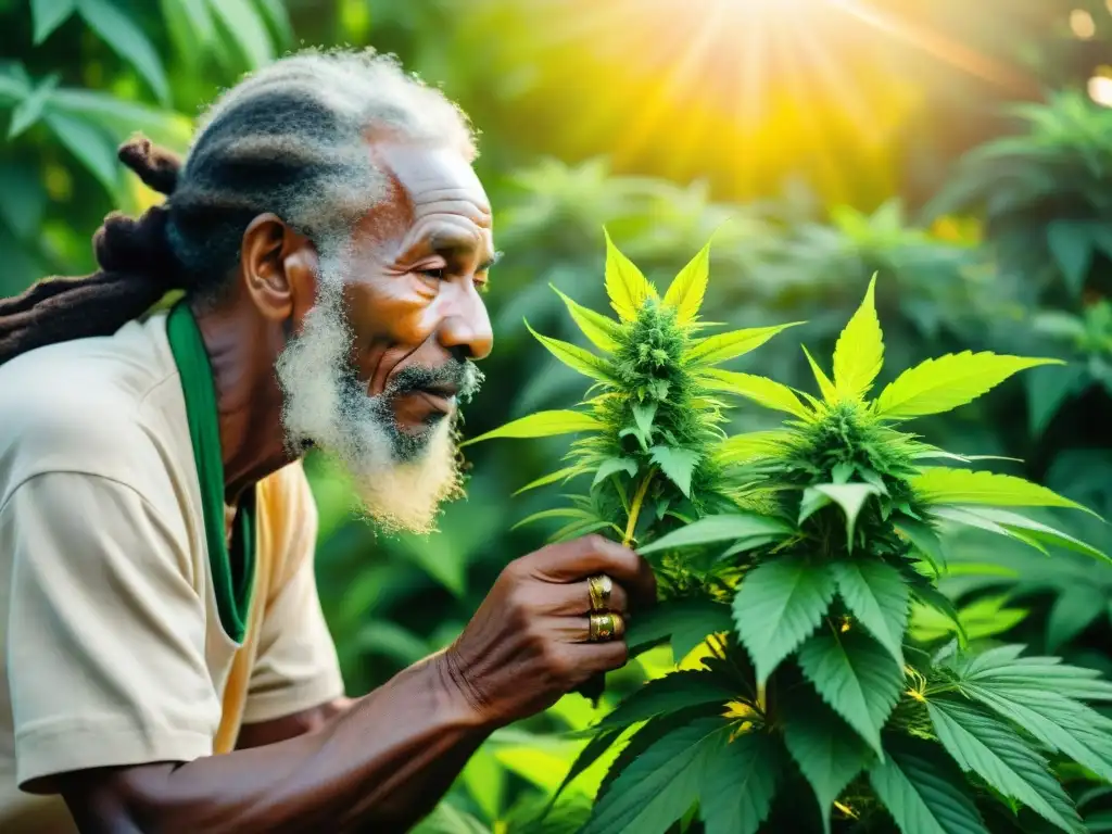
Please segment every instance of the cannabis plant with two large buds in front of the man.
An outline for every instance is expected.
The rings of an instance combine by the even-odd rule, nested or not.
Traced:
[[[585,487],[537,517],[567,519],[556,538],[602,530],[648,558],[662,599],[628,639],[687,658],[594,727],[568,780],[624,747],[584,834],[1084,832],[1054,768],[1112,778],[1112,721],[1090,706],[1112,684],[1023,646],[976,652],[907,627],[913,602],[953,615],[934,585],[942,525],[1102,557],[1017,512],[1080,505],[903,430],[1054,360],[947,355],[871,398],[874,276],[832,375],[804,348],[814,396],[717,367],[787,326],[703,335],[706,247],[662,297],[606,246],[617,319],[564,298],[597,353],[536,335],[594,396],[476,438],[580,435],[527,488]],[[729,436],[725,396],[787,417]]]

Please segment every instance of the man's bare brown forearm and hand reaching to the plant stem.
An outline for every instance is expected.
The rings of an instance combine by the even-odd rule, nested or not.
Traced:
[[[83,832],[408,831],[498,726],[617,668],[625,643],[587,642],[587,577],[612,606],[655,596],[632,552],[589,536],[517,559],[448,651],[391,678],[311,732],[205,756],[57,781]],[[628,589],[628,592],[626,590]]]

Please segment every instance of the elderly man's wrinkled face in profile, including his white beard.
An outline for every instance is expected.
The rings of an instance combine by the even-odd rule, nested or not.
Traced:
[[[278,360],[284,420],[344,463],[376,520],[425,532],[459,488],[455,418],[493,344],[490,207],[450,149],[374,152],[391,192],[320,262],[317,304]]]

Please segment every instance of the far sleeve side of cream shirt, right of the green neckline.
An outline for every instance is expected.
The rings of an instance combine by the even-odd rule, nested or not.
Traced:
[[[316,578],[317,508],[300,464],[281,477],[280,499],[268,502],[279,574],[267,602],[251,668],[244,723],[281,718],[345,694],[336,645]],[[276,517],[275,517],[276,516]]]

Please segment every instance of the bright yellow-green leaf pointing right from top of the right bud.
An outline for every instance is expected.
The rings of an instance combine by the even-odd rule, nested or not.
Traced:
[[[876,416],[886,420],[942,414],[972,403],[1021,370],[1063,364],[1061,359],[1031,359],[989,351],[947,354],[905,370],[881,391],[874,408]]]

